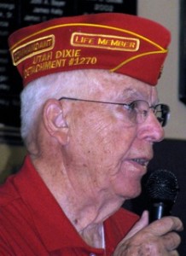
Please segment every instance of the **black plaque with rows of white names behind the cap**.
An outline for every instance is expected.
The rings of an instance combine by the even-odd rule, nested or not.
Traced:
[[[0,143],[21,143],[22,84],[10,59],[9,35],[45,20],[101,12],[137,15],[137,0],[0,0]]]

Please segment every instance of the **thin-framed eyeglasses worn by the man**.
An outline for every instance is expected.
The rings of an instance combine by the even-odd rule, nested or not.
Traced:
[[[116,103],[116,102],[99,102],[92,100],[84,100],[78,98],[71,97],[61,97],[58,101],[61,100],[70,100],[70,101],[78,101],[78,102],[93,102],[93,103],[103,103],[103,104],[113,104],[124,107],[126,112],[126,118],[129,123],[132,124],[142,124],[147,118],[149,110],[152,109],[155,117],[160,122],[162,127],[166,126],[167,121],[170,117],[170,108],[166,104],[157,104],[155,106],[150,106],[148,102],[137,100],[131,102],[130,104],[125,103]]]

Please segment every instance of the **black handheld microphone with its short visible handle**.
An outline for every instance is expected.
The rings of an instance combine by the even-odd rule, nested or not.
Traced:
[[[171,215],[171,208],[179,191],[177,177],[172,172],[167,170],[152,172],[145,190],[148,196],[149,223]]]

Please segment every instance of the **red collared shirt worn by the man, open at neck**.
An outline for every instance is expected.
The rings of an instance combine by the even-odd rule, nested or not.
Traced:
[[[27,156],[20,172],[0,187],[0,255],[111,255],[137,219],[120,209],[104,222],[106,253],[88,246]]]

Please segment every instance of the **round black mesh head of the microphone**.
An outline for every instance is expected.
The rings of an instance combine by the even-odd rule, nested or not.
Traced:
[[[177,177],[167,170],[156,170],[150,174],[145,186],[149,201],[162,201],[173,205],[179,186]]]

